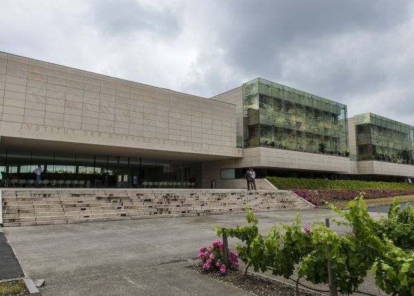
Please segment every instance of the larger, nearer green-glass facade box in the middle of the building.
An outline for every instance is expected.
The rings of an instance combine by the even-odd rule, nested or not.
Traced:
[[[243,85],[244,147],[348,157],[346,105],[257,78]]]

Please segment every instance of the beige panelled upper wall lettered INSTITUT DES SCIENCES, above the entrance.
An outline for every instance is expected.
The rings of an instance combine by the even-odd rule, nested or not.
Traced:
[[[230,103],[3,52],[0,120],[2,137],[242,156]]]

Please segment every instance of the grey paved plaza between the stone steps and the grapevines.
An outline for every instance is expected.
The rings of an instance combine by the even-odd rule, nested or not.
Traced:
[[[295,210],[257,213],[267,233]],[[304,226],[331,210],[302,210]],[[375,213],[373,214],[377,216]],[[217,239],[212,225],[244,224],[244,214],[3,228],[23,271],[46,279],[42,295],[248,295],[185,268]],[[344,228],[334,228],[344,232]],[[230,239],[230,245],[235,241]]]

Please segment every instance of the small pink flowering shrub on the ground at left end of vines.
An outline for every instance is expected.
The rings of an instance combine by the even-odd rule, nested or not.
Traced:
[[[224,245],[221,241],[213,241],[210,248],[201,247],[199,253],[199,259],[203,264],[204,270],[219,270],[221,275],[225,275],[226,264],[223,258]],[[237,268],[239,266],[239,255],[234,250],[228,253],[229,268]]]

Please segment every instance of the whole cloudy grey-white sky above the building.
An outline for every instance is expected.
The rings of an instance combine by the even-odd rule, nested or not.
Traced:
[[[1,0],[0,51],[201,97],[262,77],[414,125],[411,0]]]

